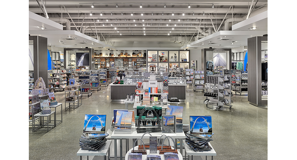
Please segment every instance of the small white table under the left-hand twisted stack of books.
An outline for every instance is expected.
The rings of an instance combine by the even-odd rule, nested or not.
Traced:
[[[87,156],[87,159],[89,159],[89,156],[104,156],[104,160],[107,160],[106,156],[108,155],[108,160],[109,160],[110,144],[111,144],[111,140],[107,140],[100,150],[81,150],[80,148],[76,153],[76,156],[80,156],[80,160],[82,159],[82,156]]]

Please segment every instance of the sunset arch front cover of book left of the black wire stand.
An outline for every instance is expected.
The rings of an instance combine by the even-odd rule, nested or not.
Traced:
[[[115,127],[131,128],[133,112],[117,111]]]

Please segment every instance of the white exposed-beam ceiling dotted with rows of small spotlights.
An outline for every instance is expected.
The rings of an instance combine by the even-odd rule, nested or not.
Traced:
[[[94,8],[91,7],[92,4],[94,4]],[[118,7],[116,7],[116,4]],[[142,4],[142,8],[140,8],[140,4]],[[214,8],[212,8],[212,4],[214,4]],[[166,8],[164,7],[165,5]],[[192,43],[198,40],[206,40],[205,37],[208,37],[208,34],[211,32],[209,32],[209,28],[212,29],[212,34],[224,31],[224,22],[227,19],[246,17],[250,7],[253,11],[250,13],[250,16],[253,18],[255,15],[259,15],[260,13],[258,12],[267,7],[267,5],[267,0],[259,0],[256,5],[254,2],[252,7],[251,1],[245,0],[227,0],[224,2],[219,0],[211,2],[191,0],[187,1],[187,3],[181,3],[177,0],[167,1],[167,3],[160,3],[155,0],[149,2],[124,0],[112,3],[106,0],[100,2],[47,0],[45,9],[48,18],[62,24],[63,33],[56,34],[56,38],[51,41],[46,31],[56,30],[56,33],[58,33],[59,29],[52,29],[43,22],[31,23],[29,21],[29,25],[36,25],[35,27],[29,27],[29,34],[47,37],[49,44],[53,43],[50,45],[61,48],[91,47],[95,50],[107,50],[109,47],[109,49],[123,50],[123,47],[119,45],[121,42],[127,42],[126,47],[135,47],[133,45],[135,42],[141,42],[139,44],[155,42],[147,47],[175,47],[180,49],[236,48],[238,46],[246,46],[247,40],[245,39],[244,42],[234,43],[233,45],[231,45],[233,41],[240,40],[234,39],[220,44],[212,44],[214,39],[207,39],[203,46],[193,46]],[[29,11],[41,17],[46,17],[46,14],[43,13],[45,12],[44,8],[42,7],[41,9],[37,1],[29,0]],[[63,18],[63,22],[61,20],[57,21],[55,18]],[[237,23],[236,30],[239,28],[239,31],[250,31],[247,28],[249,26],[258,28],[251,30],[249,35],[263,36],[263,33],[267,34],[267,18],[262,18],[261,21],[249,22],[249,24],[244,24],[244,26],[238,26],[241,22],[231,21],[229,30],[233,29],[232,24],[236,25]],[[45,28],[41,29],[42,26]],[[67,30],[69,28],[75,31],[75,33],[68,35]],[[199,34],[197,34],[198,30]],[[89,37],[86,38],[89,40],[83,40],[88,41],[87,43],[65,40],[72,39],[75,36],[81,39],[84,36],[78,35],[80,34],[79,31]],[[65,41],[60,40],[63,41],[61,43],[57,39],[64,39]],[[162,41],[158,42],[158,39]],[[103,46],[104,44],[108,47]]]

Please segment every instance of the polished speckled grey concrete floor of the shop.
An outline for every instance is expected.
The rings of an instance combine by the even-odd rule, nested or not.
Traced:
[[[64,92],[56,92],[55,97],[59,103],[63,103],[63,123],[49,132],[29,132],[29,159],[79,159],[76,156],[79,150],[79,138],[83,132],[85,114],[106,114],[106,126],[110,126],[113,117],[113,109],[125,109],[124,103],[111,102],[110,87],[102,87],[99,92],[93,91],[88,98],[83,95],[83,105],[75,110],[65,111]],[[247,101],[247,95],[234,95],[232,109],[221,108],[216,111],[214,107],[206,107],[203,104],[205,97],[201,91],[193,92],[187,88],[184,107],[183,122],[188,122],[190,115],[211,115],[214,141],[211,142],[217,156],[215,160],[226,159],[267,159],[267,107],[256,107]],[[132,110],[132,105],[129,105]],[[57,108],[57,119],[60,118],[61,108]],[[184,123],[186,124],[186,123]],[[118,143],[119,144],[119,143]],[[124,141],[123,141],[124,144]],[[119,147],[119,146],[118,146]],[[129,149],[132,148],[132,140]],[[113,142],[110,153],[113,155]],[[123,154],[125,154],[125,149]],[[118,148],[119,154],[119,148]],[[194,156],[194,159],[206,157]],[[86,156],[83,156],[86,159]],[[103,159],[102,156],[90,156],[90,160]],[[113,158],[111,158],[113,160]],[[211,159],[209,156],[208,159]]]

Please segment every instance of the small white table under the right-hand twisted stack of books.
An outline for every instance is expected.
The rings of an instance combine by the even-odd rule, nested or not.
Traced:
[[[192,156],[192,160],[193,160],[193,156],[205,156],[206,160],[207,160],[207,156],[211,156],[211,160],[214,159],[214,156],[217,156],[216,151],[214,150],[214,148],[211,146],[211,144],[209,142],[208,142],[208,144],[210,145],[212,150],[206,150],[206,151],[201,151],[201,152],[195,152],[194,150],[192,150],[192,148],[190,148],[187,145],[187,142],[185,140],[183,140],[183,142],[184,142],[184,147],[185,147],[185,159],[186,159],[187,155],[188,155],[188,160],[189,160],[189,156]]]

